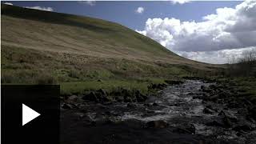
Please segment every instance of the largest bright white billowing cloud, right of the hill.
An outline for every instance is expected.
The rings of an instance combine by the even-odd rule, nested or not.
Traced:
[[[256,46],[256,1],[218,8],[202,22],[149,18],[139,31],[174,52],[207,52]],[[200,53],[202,54],[202,53]]]

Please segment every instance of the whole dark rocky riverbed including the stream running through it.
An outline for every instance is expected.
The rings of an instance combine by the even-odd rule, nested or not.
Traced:
[[[256,143],[254,105],[225,84],[186,80],[137,95],[143,100],[66,98],[61,143]]]

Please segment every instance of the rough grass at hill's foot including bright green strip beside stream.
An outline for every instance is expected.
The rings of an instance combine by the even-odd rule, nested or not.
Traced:
[[[189,74],[179,67],[2,46],[2,83],[60,84],[62,94],[118,87],[146,94],[150,84]]]

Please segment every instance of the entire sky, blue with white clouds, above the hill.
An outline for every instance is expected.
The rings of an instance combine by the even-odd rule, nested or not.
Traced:
[[[200,62],[226,63],[256,49],[256,1],[2,3],[118,22]]]

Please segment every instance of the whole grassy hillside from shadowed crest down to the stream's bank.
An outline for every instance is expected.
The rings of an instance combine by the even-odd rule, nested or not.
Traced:
[[[1,6],[2,83],[81,87],[85,82],[96,86],[100,79],[117,86],[123,81],[145,84],[209,74],[220,68],[182,58],[114,22]]]

